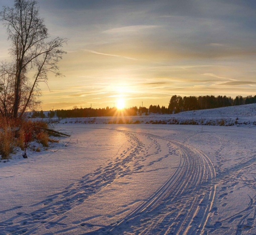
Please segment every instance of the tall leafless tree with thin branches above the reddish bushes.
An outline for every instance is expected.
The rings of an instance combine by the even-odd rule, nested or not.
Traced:
[[[0,113],[16,118],[38,103],[38,84],[47,81],[48,72],[61,75],[57,63],[66,53],[62,46],[67,38],[50,39],[36,0],[15,0],[14,7],[4,6],[0,19],[12,42],[13,59],[0,67]]]

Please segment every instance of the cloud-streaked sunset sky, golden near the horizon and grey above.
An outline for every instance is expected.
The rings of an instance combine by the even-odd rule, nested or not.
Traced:
[[[255,0],[38,0],[51,37],[69,38],[65,75],[42,109],[168,106],[172,95],[256,94]],[[11,6],[12,0],[0,0]],[[10,41],[0,25],[0,60]]]

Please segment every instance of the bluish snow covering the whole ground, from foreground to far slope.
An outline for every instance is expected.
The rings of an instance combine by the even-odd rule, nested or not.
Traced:
[[[63,119],[71,137],[0,162],[0,234],[255,234],[255,105],[171,116],[250,124]]]

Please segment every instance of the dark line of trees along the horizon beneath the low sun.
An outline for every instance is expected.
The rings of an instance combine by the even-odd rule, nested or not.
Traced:
[[[204,96],[184,96],[173,95],[170,99],[168,107],[158,105],[150,105],[147,107],[130,107],[118,110],[116,107],[106,108],[78,108],[74,106],[73,109],[57,109],[55,111],[50,110],[47,115],[41,111],[34,111],[29,113],[31,118],[44,118],[44,117],[95,117],[95,116],[117,116],[117,115],[149,115],[149,113],[170,114],[178,113],[181,111],[198,110],[198,109],[210,109],[217,107],[227,107],[234,105],[242,105],[256,103],[256,95],[248,95],[242,97],[237,95],[235,98],[218,95],[204,95]]]

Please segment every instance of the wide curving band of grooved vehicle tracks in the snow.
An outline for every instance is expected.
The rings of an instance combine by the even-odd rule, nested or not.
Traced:
[[[180,162],[173,175],[152,195],[118,224],[112,233],[202,234],[212,208],[215,170],[210,159],[185,143],[166,140],[179,148]],[[132,229],[132,231],[131,231]]]

